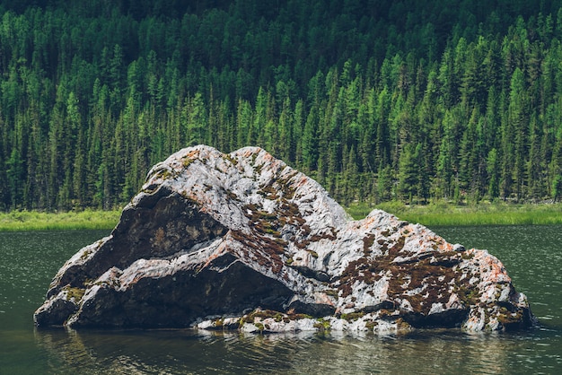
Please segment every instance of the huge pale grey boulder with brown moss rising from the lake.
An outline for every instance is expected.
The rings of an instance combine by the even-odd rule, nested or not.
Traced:
[[[380,210],[352,221],[318,183],[264,150],[203,145],[154,166],[110,236],[58,271],[34,319],[374,332],[534,321],[487,251]]]

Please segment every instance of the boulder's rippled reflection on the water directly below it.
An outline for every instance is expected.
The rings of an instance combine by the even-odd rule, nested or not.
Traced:
[[[505,373],[515,364],[514,345],[521,344],[517,336],[458,331],[361,337],[40,330],[35,337],[49,353],[49,370],[63,374]]]

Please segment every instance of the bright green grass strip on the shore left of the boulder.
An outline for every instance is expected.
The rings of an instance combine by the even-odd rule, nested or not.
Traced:
[[[13,211],[0,214],[0,231],[111,230],[121,211],[44,213]]]

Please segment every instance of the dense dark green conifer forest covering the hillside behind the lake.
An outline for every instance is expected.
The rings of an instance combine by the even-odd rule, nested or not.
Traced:
[[[0,2],[0,210],[112,208],[193,144],[340,202],[562,196],[562,1]]]

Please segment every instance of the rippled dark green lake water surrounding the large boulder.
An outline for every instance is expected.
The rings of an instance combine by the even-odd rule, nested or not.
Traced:
[[[57,269],[108,233],[0,232],[0,374],[562,373],[562,226],[433,229],[499,257],[540,327],[385,337],[36,330],[33,311]]]

